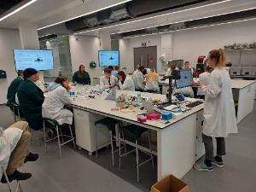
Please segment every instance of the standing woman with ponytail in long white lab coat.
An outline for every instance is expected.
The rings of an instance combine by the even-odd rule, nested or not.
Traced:
[[[222,156],[225,154],[224,137],[230,133],[237,133],[235,105],[233,101],[230,74],[224,69],[225,55],[223,49],[214,49],[209,52],[209,66],[214,70],[210,83],[201,87],[205,93],[203,142],[206,149],[205,161],[195,164],[195,169],[210,172],[213,165],[224,166]],[[213,157],[212,137],[217,141],[217,156]]]

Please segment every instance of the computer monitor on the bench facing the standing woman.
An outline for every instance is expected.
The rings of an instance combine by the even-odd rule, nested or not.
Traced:
[[[177,89],[191,86],[193,76],[190,68],[180,70],[180,79],[176,80]]]

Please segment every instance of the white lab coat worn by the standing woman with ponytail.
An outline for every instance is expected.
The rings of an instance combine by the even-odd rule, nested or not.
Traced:
[[[203,133],[210,137],[227,137],[237,133],[230,75],[224,68],[215,68],[210,76],[210,84],[203,89],[206,96]]]

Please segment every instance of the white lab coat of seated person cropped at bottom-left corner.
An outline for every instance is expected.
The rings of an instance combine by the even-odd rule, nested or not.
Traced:
[[[9,157],[20,141],[22,132],[15,127],[9,127],[5,131],[0,127],[0,166],[8,165]]]

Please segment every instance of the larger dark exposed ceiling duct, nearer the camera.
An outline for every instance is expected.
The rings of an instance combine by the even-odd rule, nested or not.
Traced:
[[[214,1],[218,2],[218,0]],[[133,0],[117,7],[104,9],[96,14],[69,20],[65,23],[65,26],[72,32],[78,32],[84,29],[92,29],[96,26],[105,26],[121,20],[129,20],[202,2],[212,2],[212,0]]]

